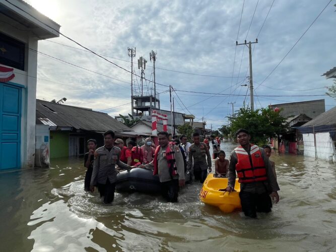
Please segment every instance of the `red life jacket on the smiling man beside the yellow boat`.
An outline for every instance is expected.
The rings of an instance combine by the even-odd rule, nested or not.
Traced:
[[[259,147],[251,145],[250,148],[250,155],[241,146],[235,148],[238,158],[236,171],[239,183],[251,183],[267,179],[265,163],[263,162]]]

